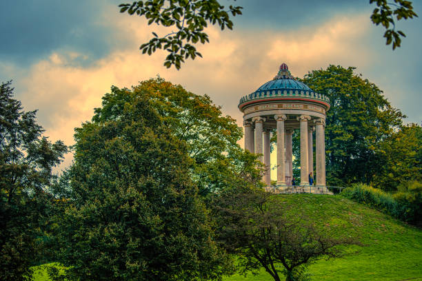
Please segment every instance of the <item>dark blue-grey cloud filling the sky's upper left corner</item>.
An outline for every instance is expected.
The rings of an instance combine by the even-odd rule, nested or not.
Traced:
[[[60,50],[86,54],[86,60],[75,63],[91,63],[117,44],[109,39],[119,32],[101,13],[110,7],[118,13],[117,5],[111,0],[1,1],[0,59],[25,66]]]

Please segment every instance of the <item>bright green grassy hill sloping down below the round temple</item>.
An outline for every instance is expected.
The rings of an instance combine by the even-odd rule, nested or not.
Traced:
[[[281,195],[280,200],[321,226],[329,224],[359,237],[363,244],[348,247],[351,254],[344,258],[312,264],[308,271],[311,280],[422,280],[421,229],[341,196],[289,194]],[[224,279],[246,280],[273,279],[265,271]]]

